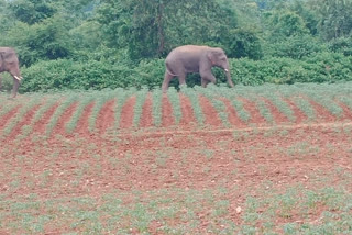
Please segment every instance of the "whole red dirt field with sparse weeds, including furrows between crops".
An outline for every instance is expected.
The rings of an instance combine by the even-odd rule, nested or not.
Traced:
[[[92,100],[69,132],[77,100],[47,134],[62,101],[42,109],[47,98],[31,99],[0,108],[0,234],[352,233],[352,111],[341,102],[334,115],[308,99],[312,120],[286,99],[289,120],[267,99],[265,118],[241,98],[244,121],[221,98],[224,122],[199,96],[200,124],[179,93],[179,123],[163,96],[156,126],[148,93],[139,126],[131,96],[118,128],[117,99],[108,99],[95,131]]]

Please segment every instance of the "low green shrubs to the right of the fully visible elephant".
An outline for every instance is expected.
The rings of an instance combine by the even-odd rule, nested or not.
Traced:
[[[245,58],[230,61],[235,83],[336,82],[352,79],[352,57],[338,53],[318,53],[302,60],[270,57],[258,61]]]

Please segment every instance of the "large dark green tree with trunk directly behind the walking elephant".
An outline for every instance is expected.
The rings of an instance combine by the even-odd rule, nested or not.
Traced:
[[[166,55],[182,44],[224,45],[238,26],[235,11],[223,1],[105,1],[97,16],[110,46],[128,46],[132,58]],[[229,37],[227,37],[229,38]]]

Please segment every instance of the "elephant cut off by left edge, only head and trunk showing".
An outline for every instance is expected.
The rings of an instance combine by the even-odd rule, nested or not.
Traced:
[[[13,77],[13,93],[12,98],[15,98],[20,81],[23,79],[20,72],[19,58],[14,49],[11,47],[0,47],[0,74],[7,71]],[[2,87],[0,76],[0,90]]]

